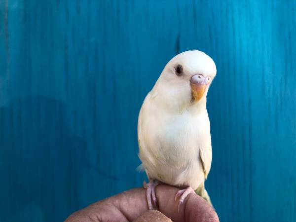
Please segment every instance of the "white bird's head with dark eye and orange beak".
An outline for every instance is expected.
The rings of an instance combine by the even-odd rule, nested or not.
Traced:
[[[169,106],[205,105],[215,75],[215,63],[208,55],[198,50],[185,51],[167,63],[152,91]]]

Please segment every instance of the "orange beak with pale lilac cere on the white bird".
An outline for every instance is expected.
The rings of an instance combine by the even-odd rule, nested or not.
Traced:
[[[203,94],[206,91],[206,86],[207,83],[202,74],[195,74],[191,76],[190,87],[195,102],[198,102],[202,98]]]

